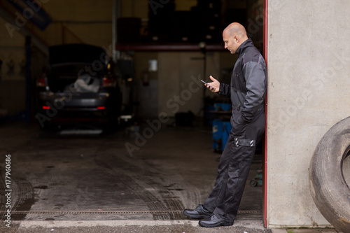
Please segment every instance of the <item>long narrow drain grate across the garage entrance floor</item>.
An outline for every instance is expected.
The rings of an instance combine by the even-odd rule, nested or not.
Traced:
[[[1,214],[6,213],[4,211]],[[11,215],[27,214],[143,214],[143,213],[183,213],[183,211],[11,211]],[[238,213],[259,213],[259,211],[238,211]]]

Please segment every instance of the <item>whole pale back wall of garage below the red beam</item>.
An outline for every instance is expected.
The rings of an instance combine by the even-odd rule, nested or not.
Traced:
[[[204,92],[200,79],[210,81],[209,76],[214,76],[221,80],[223,69],[231,72],[237,56],[229,51],[207,52],[205,77],[203,57],[202,52],[135,52],[137,115],[158,118],[160,113],[166,113],[174,117],[176,113],[192,111],[203,116],[204,94],[209,98],[218,95],[209,90]],[[148,71],[150,59],[158,61],[158,71],[149,71],[149,83],[144,85],[143,73]]]

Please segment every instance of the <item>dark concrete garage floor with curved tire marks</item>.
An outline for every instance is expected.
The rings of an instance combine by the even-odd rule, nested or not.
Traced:
[[[13,230],[77,232],[74,227],[81,226],[82,232],[94,232],[105,225],[111,227],[106,232],[133,232],[134,225],[135,232],[148,227],[149,232],[207,232],[182,211],[204,202],[214,184],[220,154],[211,149],[211,129],[163,126],[143,135],[148,139],[140,142],[123,130],[61,135],[37,125],[2,123],[1,178],[4,155],[11,155]],[[137,149],[130,153],[126,145]],[[255,155],[248,181],[261,166],[261,155]],[[3,222],[5,188],[0,192]],[[208,232],[245,229],[270,232],[262,225],[262,188],[248,182],[235,225]]]

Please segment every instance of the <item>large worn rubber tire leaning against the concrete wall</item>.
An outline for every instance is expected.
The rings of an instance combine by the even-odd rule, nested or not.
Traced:
[[[309,181],[318,210],[337,230],[350,232],[350,189],[342,165],[350,150],[350,117],[332,126],[312,156]]]

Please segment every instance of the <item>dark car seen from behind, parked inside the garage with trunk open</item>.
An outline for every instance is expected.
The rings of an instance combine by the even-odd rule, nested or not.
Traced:
[[[49,48],[49,68],[37,80],[41,127],[118,125],[122,95],[106,51],[86,44]]]

